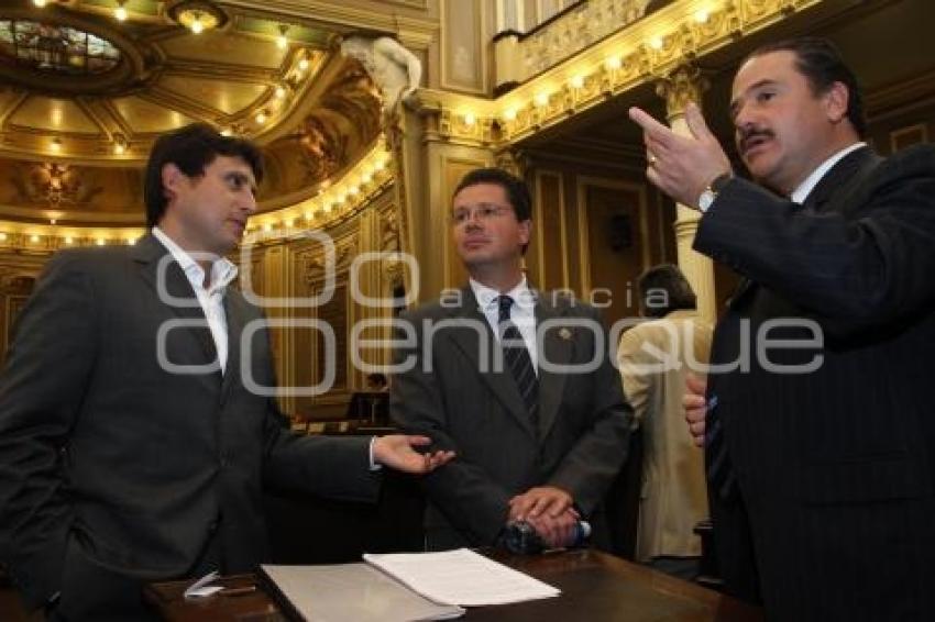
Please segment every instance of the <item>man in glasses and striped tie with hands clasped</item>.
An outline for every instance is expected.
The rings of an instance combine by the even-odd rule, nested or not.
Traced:
[[[470,284],[402,316],[391,415],[459,455],[422,480],[428,549],[496,544],[512,521],[562,546],[600,522],[626,455],[631,410],[596,311],[522,274],[530,215],[521,180],[469,173],[451,218]]]

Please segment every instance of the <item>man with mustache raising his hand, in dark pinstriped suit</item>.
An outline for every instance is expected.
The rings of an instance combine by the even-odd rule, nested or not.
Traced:
[[[730,116],[759,186],[695,105],[691,136],[630,111],[695,249],[745,277],[685,397],[727,588],[773,620],[933,620],[935,149],[877,156],[818,38],[754,52]]]

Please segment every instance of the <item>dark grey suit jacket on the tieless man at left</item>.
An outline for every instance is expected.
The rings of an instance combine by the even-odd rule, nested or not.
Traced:
[[[264,557],[265,482],[371,499],[367,440],[293,436],[275,400],[261,312],[228,289],[227,373],[194,291],[153,236],[53,257],[24,308],[0,380],[0,558],[31,604],[62,603],[97,570],[185,576],[212,530],[229,573]],[[172,307],[160,295],[187,302]]]

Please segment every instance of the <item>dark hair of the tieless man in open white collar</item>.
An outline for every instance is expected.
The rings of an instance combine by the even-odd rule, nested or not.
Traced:
[[[222,136],[207,123],[193,123],[160,136],[150,152],[143,178],[146,226],[158,224],[168,204],[163,188],[165,165],[174,164],[188,177],[200,177],[219,155],[242,158],[253,169],[256,182],[263,180],[263,156],[249,141]]]

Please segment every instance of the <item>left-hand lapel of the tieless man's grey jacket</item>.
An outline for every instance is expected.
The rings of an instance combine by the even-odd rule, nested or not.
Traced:
[[[153,235],[140,240],[132,256],[140,265],[140,277],[153,289],[160,302],[179,319],[190,322],[175,330],[187,331],[200,345],[207,360],[217,360],[218,351],[205,312],[178,262],[172,259],[165,246]]]

